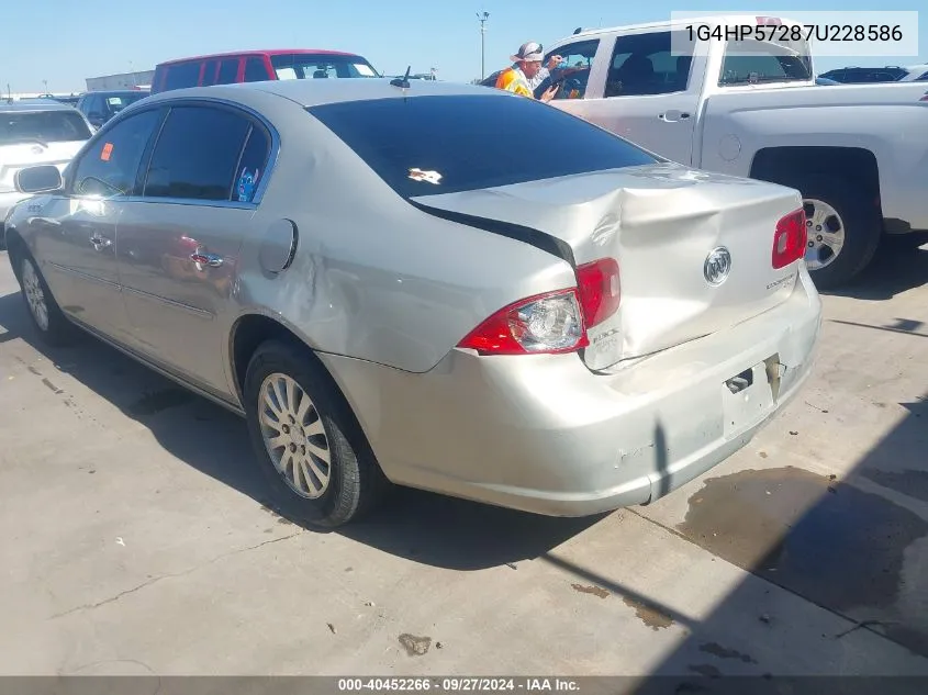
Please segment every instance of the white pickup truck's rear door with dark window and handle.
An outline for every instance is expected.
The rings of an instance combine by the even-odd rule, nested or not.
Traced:
[[[662,157],[691,165],[702,90],[691,74],[704,75],[706,59],[692,48],[684,30],[619,34],[606,58],[605,76],[593,75],[582,100],[556,105]]]

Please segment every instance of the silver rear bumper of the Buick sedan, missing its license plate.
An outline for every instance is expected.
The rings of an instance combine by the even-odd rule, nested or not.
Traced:
[[[647,504],[748,444],[808,377],[820,325],[803,269],[780,306],[615,373],[575,355],[452,350],[425,374],[323,359],[394,482],[584,516]],[[746,370],[753,385],[731,393]]]

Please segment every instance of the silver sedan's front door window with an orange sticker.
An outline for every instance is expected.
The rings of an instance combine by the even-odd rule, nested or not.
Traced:
[[[77,162],[69,177],[70,192],[102,198],[134,194],[138,165],[159,120],[159,111],[143,111],[111,128]]]

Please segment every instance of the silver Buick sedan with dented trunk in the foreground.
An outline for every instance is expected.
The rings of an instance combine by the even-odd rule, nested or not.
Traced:
[[[798,192],[481,87],[165,92],[18,183],[38,333],[80,326],[247,418],[310,525],[388,483],[647,504],[743,447],[818,341]]]

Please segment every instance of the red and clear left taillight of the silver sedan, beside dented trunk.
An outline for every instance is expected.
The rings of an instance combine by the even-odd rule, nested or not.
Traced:
[[[604,258],[577,269],[577,287],[504,306],[458,344],[482,355],[555,355],[588,347],[586,329],[617,310],[618,264]]]

